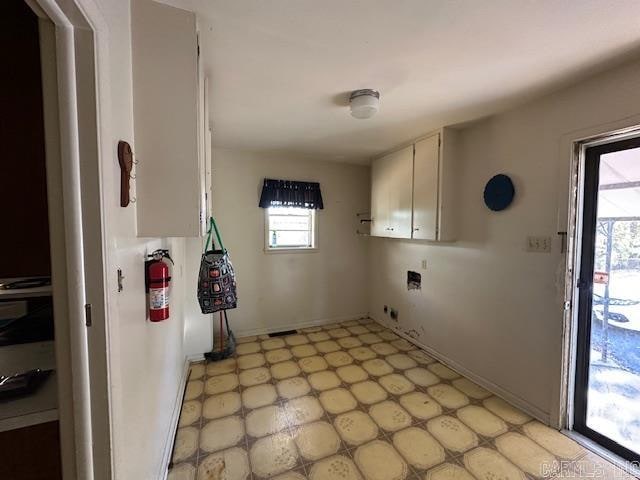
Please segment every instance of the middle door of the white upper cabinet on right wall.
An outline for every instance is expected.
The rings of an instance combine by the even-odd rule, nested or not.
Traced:
[[[387,176],[390,219],[387,236],[411,238],[413,145],[390,155]]]

